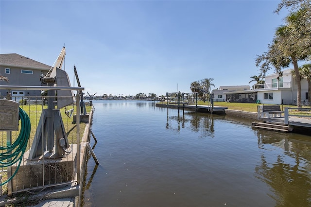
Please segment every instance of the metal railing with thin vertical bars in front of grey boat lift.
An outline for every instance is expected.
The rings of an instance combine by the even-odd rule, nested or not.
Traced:
[[[80,96],[79,91],[84,90],[83,87],[51,87],[51,86],[0,86],[0,89],[8,90],[8,93],[12,89],[18,90],[71,90],[76,91],[75,96],[70,96],[69,98],[76,99],[73,104],[69,104],[66,107],[72,108],[76,111],[76,115],[80,114]],[[76,116],[76,121],[73,121],[73,118],[65,116],[66,110],[65,107],[59,110],[59,114],[63,114],[64,116],[61,117],[65,134],[68,137],[68,148],[65,149],[65,155],[59,157],[55,156],[55,148],[57,144],[57,140],[52,140],[55,142],[53,152],[46,151],[46,146],[42,143],[42,150],[41,154],[39,154],[36,158],[31,158],[29,155],[31,153],[31,148],[33,148],[33,142],[36,139],[37,132],[39,132],[39,124],[43,121],[42,114],[43,111],[48,107],[48,100],[53,99],[60,99],[60,97],[56,96],[23,96],[23,97],[13,97],[14,99],[18,100],[19,107],[23,109],[26,114],[28,115],[30,122],[32,123],[31,126],[31,133],[30,138],[27,143],[27,149],[25,154],[23,155],[21,161],[21,167],[17,167],[17,164],[12,166],[8,166],[7,169],[11,169],[10,171],[7,169],[0,169],[2,170],[2,177],[3,173],[6,170],[10,172],[17,171],[17,174],[13,177],[10,182],[7,183],[7,191],[8,195],[11,195],[12,192],[20,192],[20,191],[29,191],[29,189],[34,190],[36,188],[42,188],[42,186],[57,186],[62,183],[68,182],[76,182],[77,184],[80,183],[80,116]],[[64,98],[64,97],[62,97]],[[66,98],[66,97],[65,97]],[[8,99],[8,96],[0,96],[0,99]],[[55,101],[53,101],[55,102]],[[53,104],[55,105],[55,103]],[[53,109],[54,110],[54,109]],[[71,110],[71,109],[69,109]],[[63,113],[64,112],[64,113]],[[41,116],[41,117],[40,117]],[[49,116],[49,115],[48,115]],[[54,115],[53,115],[54,116]],[[45,131],[44,121],[42,122],[42,138],[47,138],[47,132]],[[17,139],[20,131],[0,131],[0,142],[1,146],[9,146],[13,145],[14,141]],[[74,133],[76,131],[76,134]],[[54,135],[53,135],[54,136]],[[56,137],[56,132],[55,132]],[[61,138],[63,139],[63,138]],[[44,141],[42,141],[44,142]],[[49,137],[48,137],[49,142]],[[51,142],[51,140],[50,140]],[[39,145],[40,148],[40,145]],[[0,150],[1,155],[6,153],[6,150]],[[47,156],[48,154],[51,156]],[[75,153],[75,155],[74,155]],[[53,155],[54,154],[54,155]],[[57,162],[56,160],[62,159],[66,157],[67,160],[65,162],[69,162],[68,164],[70,173],[67,172],[67,169],[64,166],[61,166],[60,161]],[[70,167],[71,166],[71,167]],[[41,169],[41,170],[40,170]],[[7,177],[9,178],[12,174],[8,174]],[[3,182],[3,180],[2,180]]]

